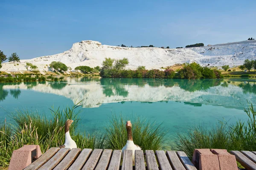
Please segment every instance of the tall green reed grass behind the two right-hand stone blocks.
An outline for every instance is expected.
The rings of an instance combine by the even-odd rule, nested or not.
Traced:
[[[256,150],[256,111],[251,104],[247,113],[247,121],[237,120],[229,125],[226,121],[210,129],[203,126],[192,126],[187,133],[177,134],[177,150],[184,151],[192,158],[194,149],[214,148],[230,150]]]

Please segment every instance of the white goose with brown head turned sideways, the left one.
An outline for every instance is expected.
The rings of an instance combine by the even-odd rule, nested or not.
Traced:
[[[70,148],[70,149],[77,148],[76,142],[73,139],[71,139],[71,136],[69,133],[69,128],[72,122],[74,121],[68,119],[65,123],[65,143],[62,144],[60,148],[63,148],[63,147]]]

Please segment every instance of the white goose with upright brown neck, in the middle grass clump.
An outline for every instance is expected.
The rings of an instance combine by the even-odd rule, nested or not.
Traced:
[[[126,122],[126,130],[127,130],[127,142],[125,146],[122,148],[122,156],[125,150],[132,150],[132,160],[134,163],[135,150],[141,150],[141,148],[137,144],[134,144],[133,142],[132,132],[131,132],[131,121]]]

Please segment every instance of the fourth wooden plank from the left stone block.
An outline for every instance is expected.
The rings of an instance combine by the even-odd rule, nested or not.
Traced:
[[[92,149],[83,149],[69,170],[81,170],[92,151]]]

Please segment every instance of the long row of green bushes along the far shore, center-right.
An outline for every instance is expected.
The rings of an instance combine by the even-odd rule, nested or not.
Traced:
[[[146,70],[145,66],[139,66],[136,70],[125,70],[128,65],[128,59],[111,59],[105,58],[100,70],[102,78],[153,78],[153,79],[221,79],[223,75],[218,70],[202,67],[193,62],[186,63],[183,68],[176,71],[166,69]]]

